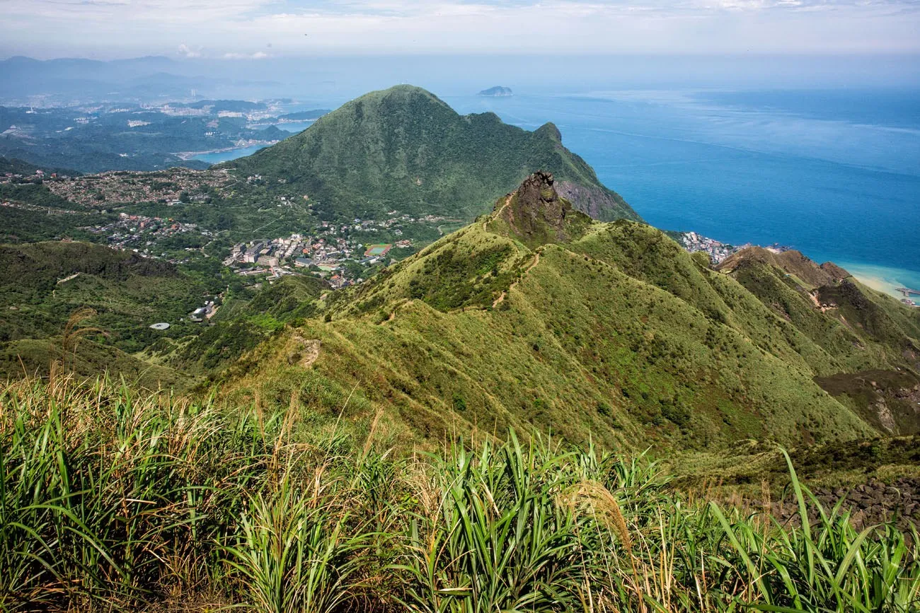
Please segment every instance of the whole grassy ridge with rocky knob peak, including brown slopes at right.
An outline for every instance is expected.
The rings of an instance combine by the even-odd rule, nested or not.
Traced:
[[[406,436],[435,438],[515,426],[715,448],[918,431],[920,311],[833,273],[828,308],[788,275],[753,260],[713,270],[647,225],[590,220],[538,174],[489,216],[330,295],[331,321],[272,339],[236,385],[270,372],[281,399],[281,385],[355,389],[355,418],[382,410]]]

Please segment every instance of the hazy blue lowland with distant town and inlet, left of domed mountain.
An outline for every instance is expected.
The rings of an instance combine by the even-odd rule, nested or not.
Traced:
[[[196,154],[270,145],[290,136],[277,125],[312,121],[325,109],[290,112],[292,101],[197,100],[0,107],[0,155],[82,173],[203,169]]]

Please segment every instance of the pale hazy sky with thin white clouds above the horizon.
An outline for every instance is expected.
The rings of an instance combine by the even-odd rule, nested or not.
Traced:
[[[0,0],[0,41],[42,59],[916,52],[920,0]]]

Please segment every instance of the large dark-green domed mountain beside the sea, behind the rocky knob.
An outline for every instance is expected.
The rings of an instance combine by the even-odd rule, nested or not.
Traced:
[[[600,220],[638,215],[547,123],[529,132],[494,113],[458,115],[409,85],[349,102],[272,147],[224,164],[259,174],[289,196],[307,196],[324,217],[389,210],[472,219],[540,168],[579,210]]]

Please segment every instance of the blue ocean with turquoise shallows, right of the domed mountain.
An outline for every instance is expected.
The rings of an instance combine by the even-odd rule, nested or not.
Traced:
[[[442,96],[546,121],[652,225],[790,245],[877,289],[920,288],[920,91],[515,91]]]

